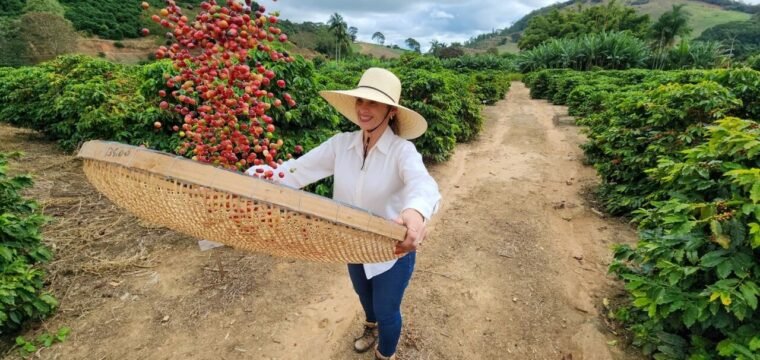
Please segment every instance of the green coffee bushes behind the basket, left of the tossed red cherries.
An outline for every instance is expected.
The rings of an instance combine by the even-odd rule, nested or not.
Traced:
[[[140,91],[151,84],[144,81],[146,75],[157,76],[155,85],[166,65],[125,67],[85,56],[63,56],[38,67],[6,71],[0,73],[0,119],[39,130],[66,150],[90,139],[173,149],[178,139],[167,136],[168,126],[155,131],[152,124],[173,125],[178,120],[159,111],[157,101],[148,103]]]

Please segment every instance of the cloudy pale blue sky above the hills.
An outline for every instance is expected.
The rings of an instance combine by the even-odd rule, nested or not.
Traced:
[[[413,38],[426,51],[430,42],[450,44],[509,27],[532,10],[556,0],[259,0],[268,11],[279,10],[283,19],[294,22],[327,23],[339,13],[348,26],[359,31],[359,41],[375,42],[380,31],[385,44],[405,47]],[[745,0],[757,4],[760,0]]]

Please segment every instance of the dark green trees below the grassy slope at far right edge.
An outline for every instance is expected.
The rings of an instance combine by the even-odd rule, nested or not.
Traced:
[[[720,41],[736,59],[745,59],[760,51],[760,21],[735,21],[713,26],[697,38],[701,41]]]

